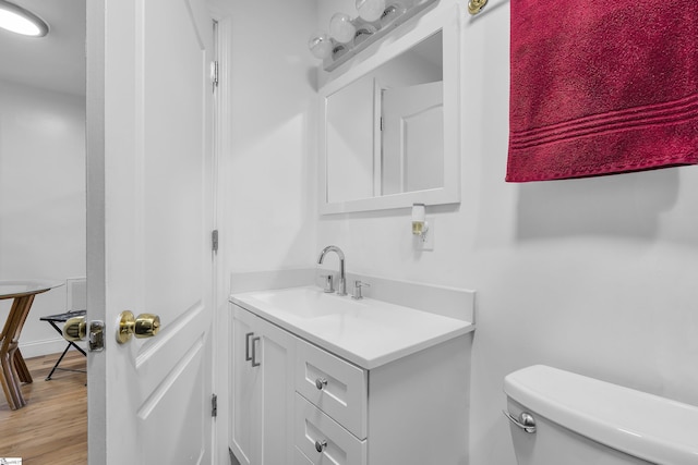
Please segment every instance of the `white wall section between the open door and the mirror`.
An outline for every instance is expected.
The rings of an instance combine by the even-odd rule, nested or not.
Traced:
[[[315,243],[315,0],[231,10],[230,152],[222,154],[230,271],[304,268]]]

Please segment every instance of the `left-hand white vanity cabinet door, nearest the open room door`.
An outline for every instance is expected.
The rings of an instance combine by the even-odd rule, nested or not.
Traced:
[[[262,374],[252,366],[254,319],[249,311],[232,306],[230,449],[242,465],[260,464],[262,448]]]

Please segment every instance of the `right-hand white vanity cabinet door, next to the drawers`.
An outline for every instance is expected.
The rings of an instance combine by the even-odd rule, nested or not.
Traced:
[[[256,333],[262,338],[255,353],[261,364],[257,369],[262,371],[262,460],[258,463],[290,465],[293,462],[296,336],[261,318],[255,325]]]

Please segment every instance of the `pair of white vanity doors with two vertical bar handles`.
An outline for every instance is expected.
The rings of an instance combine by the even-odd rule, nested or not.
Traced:
[[[230,449],[242,465],[292,461],[296,342],[232,305]]]

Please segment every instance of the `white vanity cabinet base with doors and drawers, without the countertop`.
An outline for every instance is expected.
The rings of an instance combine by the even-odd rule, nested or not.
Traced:
[[[332,343],[326,350],[232,307],[231,450],[241,463],[467,463],[469,332],[360,366],[330,352]],[[399,339],[384,336],[380,345]]]

